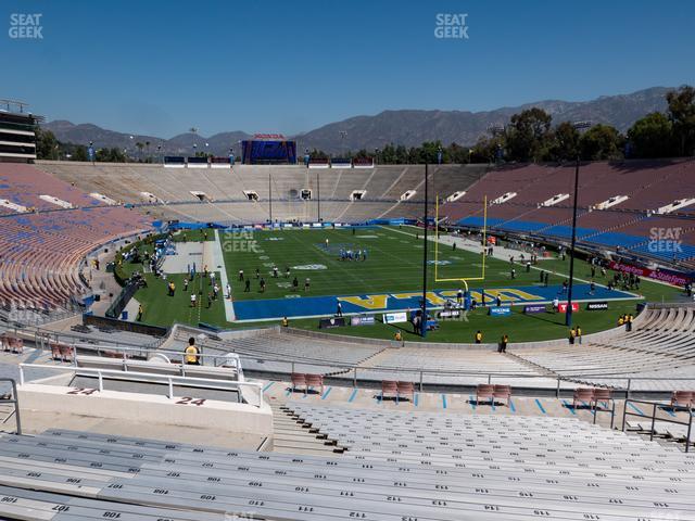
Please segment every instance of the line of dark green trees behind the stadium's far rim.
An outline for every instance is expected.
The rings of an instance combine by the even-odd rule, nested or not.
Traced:
[[[378,164],[422,163],[541,163],[574,160],[601,161],[628,158],[656,158],[695,155],[695,88],[681,87],[666,94],[667,112],[654,112],[637,119],[623,135],[611,125],[592,125],[582,131],[573,123],[553,125],[553,117],[542,109],[528,109],[514,114],[509,123],[492,128],[472,147],[458,143],[444,145],[441,141],[426,141],[419,147],[389,143],[381,149],[362,149],[345,154],[349,158],[374,157]],[[53,132],[37,129],[37,156],[40,160],[89,161],[87,147],[62,143]],[[99,162],[152,162],[143,158],[142,149],[149,142],[136,143],[139,157],[128,157],[117,149],[98,149]],[[197,152],[195,155],[204,155]],[[330,154],[314,149],[314,158],[328,158]]]

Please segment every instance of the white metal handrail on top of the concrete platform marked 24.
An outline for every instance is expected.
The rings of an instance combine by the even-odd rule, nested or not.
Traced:
[[[240,382],[240,381],[231,381],[231,380],[214,380],[211,378],[194,378],[194,377],[178,377],[172,374],[157,374],[153,372],[127,372],[127,371],[117,371],[115,369],[98,369],[98,368],[88,368],[88,367],[79,367],[76,368],[74,366],[49,366],[42,364],[20,364],[20,385],[24,385],[25,368],[33,369],[50,369],[50,370],[59,370],[59,371],[70,371],[75,372],[75,374],[80,373],[91,373],[96,376],[99,380],[99,392],[103,392],[103,380],[104,377],[119,380],[128,380],[136,382],[150,382],[150,383],[166,383],[167,384],[167,397],[169,399],[174,398],[174,383],[178,383],[181,385],[186,385],[188,387],[197,387],[197,389],[214,389],[219,391],[230,391],[229,387],[236,387],[238,393],[238,401],[241,399],[241,387],[248,386],[254,389],[257,392],[258,403],[251,404],[254,407],[261,408],[263,406],[263,385],[255,382]],[[153,382],[153,380],[155,380]],[[220,383],[226,384],[219,385]]]

